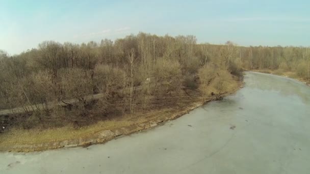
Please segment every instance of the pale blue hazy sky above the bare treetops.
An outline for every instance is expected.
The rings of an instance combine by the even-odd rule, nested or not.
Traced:
[[[0,49],[11,55],[46,40],[83,43],[139,32],[194,35],[198,43],[310,46],[310,1],[0,0]]]

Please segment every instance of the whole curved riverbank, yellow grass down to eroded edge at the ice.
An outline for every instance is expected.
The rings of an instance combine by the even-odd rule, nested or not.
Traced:
[[[229,88],[220,97],[210,96],[205,102],[202,102],[201,97],[188,97],[187,100],[180,102],[174,107],[136,113],[135,117],[126,114],[118,119],[99,121],[77,130],[73,129],[72,126],[45,130],[13,129],[0,134],[0,151],[33,152],[67,147],[87,147],[91,144],[104,143],[113,138],[147,130],[163,122],[179,118],[206,102],[235,93],[242,85],[243,82],[239,81],[238,85],[234,86],[234,88]]]

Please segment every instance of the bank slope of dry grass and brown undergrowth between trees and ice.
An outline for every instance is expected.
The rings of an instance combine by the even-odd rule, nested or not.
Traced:
[[[238,85],[237,83],[236,85],[231,84],[227,91],[220,96],[209,95],[204,101],[216,100],[234,93],[241,85],[242,82],[238,82]],[[118,134],[129,134],[145,130],[154,125],[156,126],[160,122],[173,120],[202,104],[199,90],[184,89],[182,93],[167,95],[157,102],[153,102],[147,108],[137,109],[133,116],[128,112],[122,114],[115,112],[110,113],[110,115],[95,114],[87,123],[77,128],[72,123],[65,126],[41,126],[32,129],[13,127],[10,131],[0,134],[0,151],[31,152],[105,142],[118,136]],[[98,134],[105,130],[111,130],[113,136],[98,139]],[[117,133],[119,131],[121,133]]]

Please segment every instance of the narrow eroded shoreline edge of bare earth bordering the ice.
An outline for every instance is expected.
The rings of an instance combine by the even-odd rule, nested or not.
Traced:
[[[134,123],[128,126],[116,127],[114,129],[102,129],[99,132],[94,132],[90,137],[87,138],[75,138],[60,141],[50,141],[35,144],[15,144],[13,146],[5,146],[0,144],[0,152],[38,152],[46,150],[54,150],[60,148],[72,148],[72,147],[88,147],[93,144],[105,143],[109,140],[119,138],[121,136],[130,135],[132,133],[146,131],[158,125],[161,125],[167,121],[177,119],[183,115],[189,113],[191,110],[202,106],[208,102],[220,100],[223,97],[236,93],[239,89],[243,87],[243,80],[238,82],[236,89],[230,92],[222,94],[220,97],[212,97],[205,102],[193,101],[185,108],[180,108],[179,110],[174,110],[172,113],[161,114],[158,117],[150,118],[147,121]]]

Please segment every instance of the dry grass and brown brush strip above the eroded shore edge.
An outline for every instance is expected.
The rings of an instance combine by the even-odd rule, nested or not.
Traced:
[[[236,89],[231,89],[235,91]],[[233,92],[229,91],[229,93]],[[202,103],[201,93],[199,91],[188,91],[189,97],[185,92],[179,95],[167,96],[161,101],[157,101],[157,105],[138,109],[133,117],[130,112],[119,117],[109,115],[110,119],[99,120],[90,125],[84,125],[74,128],[74,123],[68,123],[65,126],[42,128],[36,127],[32,129],[12,128],[10,131],[0,134],[0,147],[11,147],[16,144],[41,144],[45,142],[58,142],[68,139],[87,139],[102,130],[116,130],[123,127],[131,127],[141,123],[156,121],[160,117],[170,118],[171,115],[191,107],[197,107]],[[206,97],[205,100],[214,100],[214,96]],[[167,102],[163,102],[166,100]],[[177,104],[173,104],[176,103]],[[102,118],[101,118],[102,119]],[[87,144],[85,144],[87,145]]]

